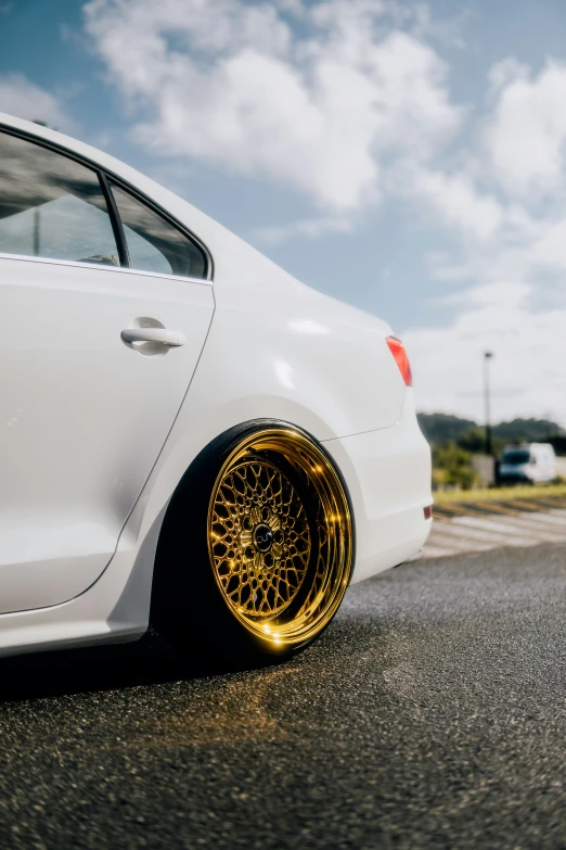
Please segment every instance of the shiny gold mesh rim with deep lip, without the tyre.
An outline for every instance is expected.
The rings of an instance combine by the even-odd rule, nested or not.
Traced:
[[[245,437],[213,489],[208,551],[224,601],[249,632],[274,647],[318,634],[352,558],[348,500],[326,455],[298,431]]]

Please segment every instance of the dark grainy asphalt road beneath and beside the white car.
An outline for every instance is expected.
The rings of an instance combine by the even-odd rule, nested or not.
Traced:
[[[0,662],[0,847],[565,848],[566,547],[352,587],[292,663]]]

